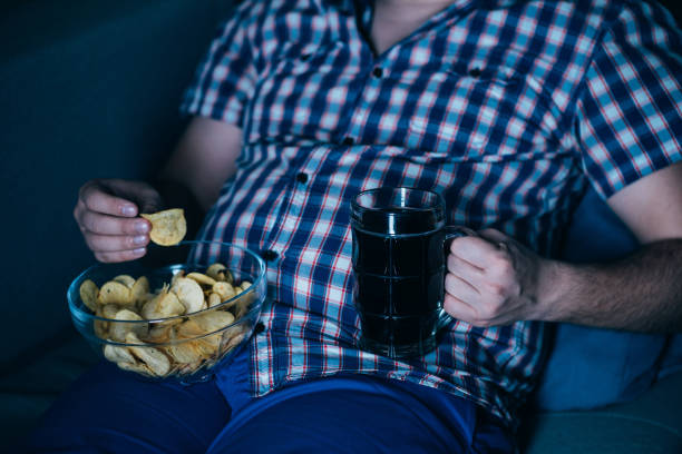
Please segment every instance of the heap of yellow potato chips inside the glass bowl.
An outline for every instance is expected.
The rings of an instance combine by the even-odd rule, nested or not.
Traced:
[[[166,377],[211,367],[223,354],[243,342],[249,329],[243,324],[234,325],[234,322],[246,313],[255,298],[253,292],[243,294],[250,286],[247,280],[235,286],[232,273],[225,265],[216,263],[205,273],[179,270],[169,284],[163,284],[154,293],[147,277],[135,279],[129,275],[118,275],[100,289],[92,282],[84,283],[80,293],[84,304],[88,302],[86,306],[92,306],[97,316],[110,319],[95,320],[96,335],[137,344],[105,346],[107,359],[125,371]],[[231,312],[214,310],[183,317],[230,298],[234,298],[237,306],[231,309],[236,316]],[[167,317],[176,318],[157,320]]]

